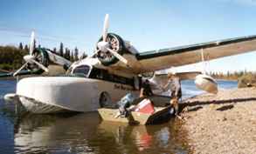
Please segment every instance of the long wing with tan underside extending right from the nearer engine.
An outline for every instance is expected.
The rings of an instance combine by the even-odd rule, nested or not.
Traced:
[[[136,58],[141,64],[142,72],[149,72],[201,62],[202,50],[204,60],[246,53],[256,50],[256,36],[236,37],[203,44],[152,50],[139,53]]]

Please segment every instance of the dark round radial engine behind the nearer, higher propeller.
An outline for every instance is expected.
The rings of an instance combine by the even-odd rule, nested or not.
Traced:
[[[99,42],[102,41],[102,37],[100,38]],[[113,33],[108,33],[107,34],[107,43],[109,44],[109,48],[111,50],[114,50],[115,52],[119,53],[120,55],[123,54],[123,50],[124,50],[124,43],[121,39],[121,37],[119,37],[116,34]],[[98,50],[98,47],[97,47]],[[111,54],[109,51],[104,52],[104,51],[99,51],[97,53],[97,57],[99,58],[101,64],[108,66],[111,64],[115,64],[118,62],[118,59],[116,57],[114,57],[113,54]]]

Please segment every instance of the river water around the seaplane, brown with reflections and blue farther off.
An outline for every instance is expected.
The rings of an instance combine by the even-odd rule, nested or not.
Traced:
[[[220,89],[237,82],[218,81]],[[129,126],[103,122],[97,112],[59,115],[15,114],[3,96],[15,92],[15,80],[0,80],[0,153],[189,153],[179,122]],[[193,81],[182,82],[183,97],[201,94]]]

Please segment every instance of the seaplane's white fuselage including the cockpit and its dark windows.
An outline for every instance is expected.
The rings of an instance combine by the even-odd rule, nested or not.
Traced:
[[[90,59],[73,64],[69,75],[74,77],[27,77],[20,80],[16,93],[19,101],[26,110],[34,113],[86,112],[104,107],[106,102],[114,104],[128,92],[138,93],[131,83],[133,77],[109,74],[88,62],[92,64]],[[105,103],[102,105],[100,101]]]

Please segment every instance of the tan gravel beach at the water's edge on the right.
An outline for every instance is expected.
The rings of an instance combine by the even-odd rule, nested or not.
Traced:
[[[181,106],[191,153],[256,153],[256,88],[203,94]]]

